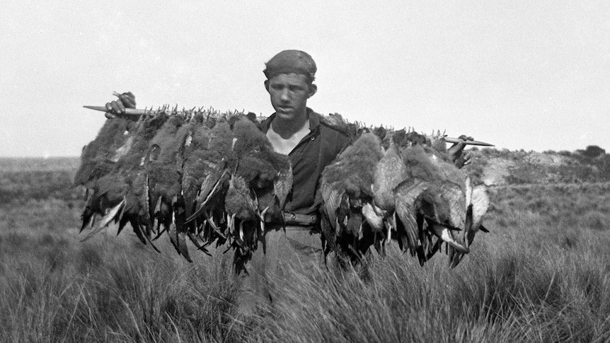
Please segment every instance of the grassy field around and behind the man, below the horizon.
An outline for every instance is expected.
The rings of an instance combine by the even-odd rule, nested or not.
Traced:
[[[0,342],[610,342],[610,184],[490,188],[456,269],[373,255],[235,318],[231,256],[178,257],[127,231],[79,242],[75,159],[0,159]]]

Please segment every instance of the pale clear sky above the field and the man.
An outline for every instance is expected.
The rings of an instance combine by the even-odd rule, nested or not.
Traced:
[[[308,105],[498,149],[610,152],[609,1],[27,1],[0,13],[0,156],[79,156],[113,92],[270,115],[304,50]]]

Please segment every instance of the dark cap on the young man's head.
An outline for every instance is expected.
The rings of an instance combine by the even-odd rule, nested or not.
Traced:
[[[309,81],[316,79],[316,62],[311,56],[300,50],[284,50],[276,54],[265,64],[263,70],[267,79],[271,79],[279,74],[303,74]]]

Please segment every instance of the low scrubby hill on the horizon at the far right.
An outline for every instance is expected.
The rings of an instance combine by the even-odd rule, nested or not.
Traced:
[[[471,149],[473,163],[466,167],[485,185],[609,182],[610,154],[598,146],[570,151],[509,151]]]

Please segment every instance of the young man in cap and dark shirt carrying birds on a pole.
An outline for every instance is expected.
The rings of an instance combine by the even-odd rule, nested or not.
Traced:
[[[258,304],[280,298],[281,291],[272,289],[270,278],[280,277],[284,267],[310,269],[323,260],[320,235],[314,234],[318,223],[316,190],[322,170],[349,141],[347,135],[323,124],[320,115],[307,107],[307,100],[318,89],[313,83],[316,62],[309,54],[284,50],[265,66],[265,89],[275,113],[261,124],[261,130],[275,151],[289,156],[293,184],[284,219],[270,219],[267,225],[266,253],[258,249],[248,262],[248,273],[234,279],[239,314],[252,313]],[[135,107],[132,93],[123,93],[118,100],[107,103],[106,117],[120,115],[126,107]]]

